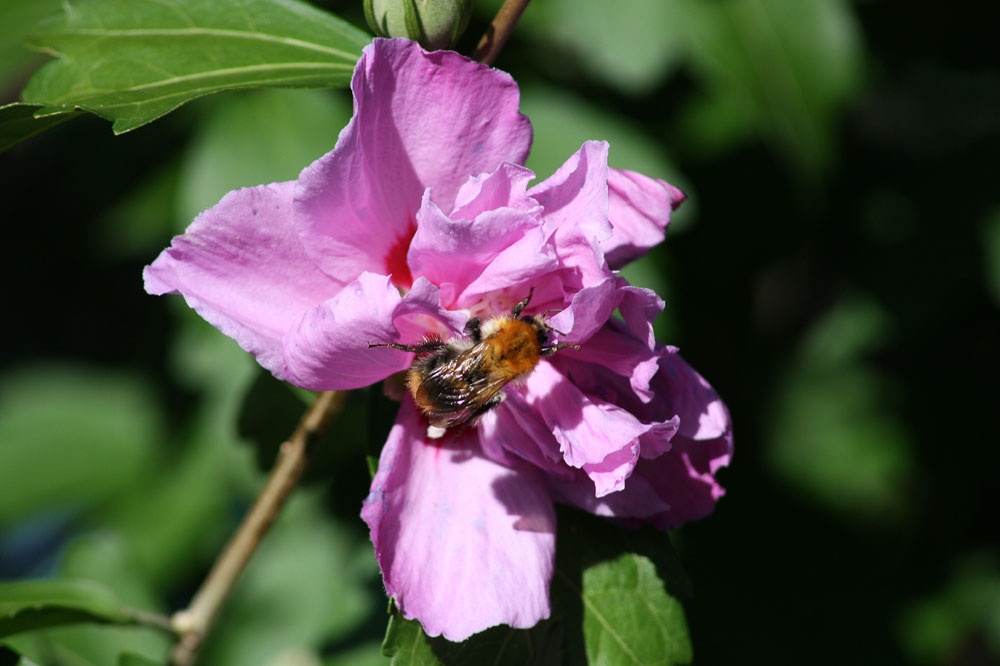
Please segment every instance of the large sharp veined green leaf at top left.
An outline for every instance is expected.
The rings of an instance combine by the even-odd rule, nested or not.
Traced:
[[[368,41],[298,0],[84,0],[32,41],[57,59],[24,101],[91,111],[120,134],[223,90],[347,86]]]

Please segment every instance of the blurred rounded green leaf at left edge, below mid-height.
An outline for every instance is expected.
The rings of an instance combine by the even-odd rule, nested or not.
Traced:
[[[127,375],[40,366],[0,378],[0,525],[117,496],[154,465],[159,430],[148,388]]]

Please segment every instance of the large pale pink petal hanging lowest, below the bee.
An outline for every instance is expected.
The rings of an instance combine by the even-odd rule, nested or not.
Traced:
[[[428,441],[403,402],[361,517],[386,591],[428,635],[461,641],[549,615],[555,512],[541,475],[484,457],[475,431]]]

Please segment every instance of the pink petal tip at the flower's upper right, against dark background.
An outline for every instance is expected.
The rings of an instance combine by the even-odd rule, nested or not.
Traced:
[[[608,265],[618,269],[663,242],[670,212],[684,201],[673,185],[634,171],[608,169],[611,237],[601,242]]]

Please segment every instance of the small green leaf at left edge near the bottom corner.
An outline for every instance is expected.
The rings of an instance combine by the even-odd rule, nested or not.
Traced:
[[[77,622],[135,624],[109,589],[84,580],[0,583],[0,637]]]

